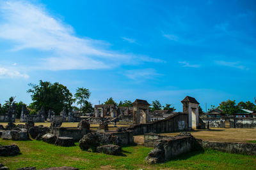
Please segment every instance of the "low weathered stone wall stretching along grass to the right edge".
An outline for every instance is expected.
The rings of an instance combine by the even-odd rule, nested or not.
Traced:
[[[239,153],[246,155],[256,155],[255,143],[230,143],[230,142],[212,142],[202,141],[198,139],[198,142],[203,148],[210,148],[222,152]]]

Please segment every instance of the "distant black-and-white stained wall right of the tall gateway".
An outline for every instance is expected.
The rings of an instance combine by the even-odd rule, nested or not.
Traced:
[[[238,117],[221,117],[221,118],[202,118],[207,127],[231,127],[231,128],[256,128],[256,118],[238,118]]]

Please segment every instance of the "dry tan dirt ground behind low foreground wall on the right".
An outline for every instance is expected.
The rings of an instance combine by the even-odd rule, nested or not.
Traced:
[[[205,141],[248,142],[256,140],[256,129],[211,128],[210,130],[189,131],[198,139]],[[164,133],[164,136],[175,136],[179,132]],[[134,142],[143,144],[143,135],[134,136]]]

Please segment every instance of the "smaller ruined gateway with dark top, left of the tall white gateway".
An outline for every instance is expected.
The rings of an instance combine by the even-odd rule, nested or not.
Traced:
[[[133,105],[133,124],[146,124],[150,122],[150,115],[148,113],[147,101],[136,99]]]

